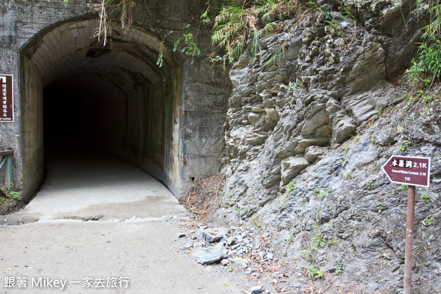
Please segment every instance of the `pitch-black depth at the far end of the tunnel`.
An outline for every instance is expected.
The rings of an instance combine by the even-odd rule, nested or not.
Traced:
[[[105,77],[71,76],[43,90],[45,158],[105,154],[126,134],[125,94]],[[113,141],[113,142],[112,142]]]

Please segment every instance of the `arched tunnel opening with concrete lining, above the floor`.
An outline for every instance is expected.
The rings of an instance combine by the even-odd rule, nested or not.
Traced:
[[[23,194],[45,162],[105,154],[147,171],[174,192],[178,181],[180,70],[170,48],[139,28],[91,38],[96,20],[47,28],[21,52]],[[163,66],[156,60],[163,54]]]

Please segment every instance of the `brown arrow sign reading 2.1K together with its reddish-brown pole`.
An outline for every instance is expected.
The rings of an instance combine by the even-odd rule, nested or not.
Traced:
[[[416,186],[429,187],[430,158],[391,156],[383,165],[391,182],[409,185],[407,193],[406,259],[404,260],[404,294],[411,294],[413,218],[415,217]]]

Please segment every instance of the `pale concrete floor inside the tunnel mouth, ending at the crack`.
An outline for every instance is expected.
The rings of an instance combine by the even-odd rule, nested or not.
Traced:
[[[57,218],[160,218],[185,215],[171,193],[140,169],[104,156],[55,161],[23,213]]]

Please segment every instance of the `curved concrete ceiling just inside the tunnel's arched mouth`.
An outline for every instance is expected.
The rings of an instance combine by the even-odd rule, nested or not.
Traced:
[[[172,50],[152,34],[134,27],[122,32],[115,23],[110,45],[101,48],[93,37],[96,28],[96,19],[63,23],[45,30],[25,47],[22,52],[39,69],[43,85],[96,74],[109,76],[119,87],[133,87],[162,81],[176,66]],[[158,68],[155,63],[161,51],[164,65]]]

